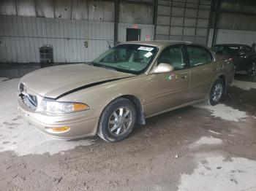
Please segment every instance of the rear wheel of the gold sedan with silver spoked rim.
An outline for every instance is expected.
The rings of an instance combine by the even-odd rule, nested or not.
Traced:
[[[212,85],[208,99],[206,103],[211,106],[215,106],[222,99],[224,94],[225,85],[222,79],[218,78],[214,85]]]

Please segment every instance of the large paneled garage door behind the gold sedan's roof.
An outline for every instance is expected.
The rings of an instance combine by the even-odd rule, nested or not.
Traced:
[[[155,39],[206,44],[211,1],[158,1]]]

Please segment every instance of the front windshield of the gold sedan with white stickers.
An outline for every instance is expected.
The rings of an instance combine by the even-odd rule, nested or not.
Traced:
[[[93,61],[93,64],[130,74],[141,74],[148,68],[156,54],[157,47],[120,44],[104,52]]]

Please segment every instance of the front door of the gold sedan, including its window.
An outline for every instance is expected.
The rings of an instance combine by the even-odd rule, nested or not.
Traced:
[[[189,92],[189,69],[187,69],[182,46],[168,47],[160,55],[157,64],[168,63],[173,71],[151,74],[150,95],[144,106],[146,115],[157,114],[187,103]]]

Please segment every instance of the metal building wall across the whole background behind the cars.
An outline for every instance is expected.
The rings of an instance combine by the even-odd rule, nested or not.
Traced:
[[[91,61],[127,40],[256,42],[255,1],[1,0],[0,63]]]

